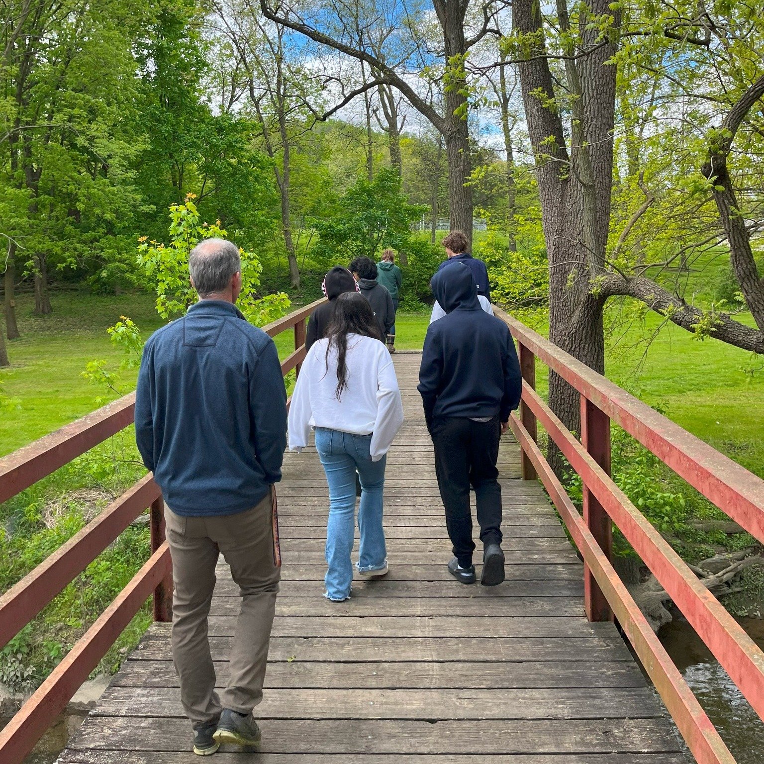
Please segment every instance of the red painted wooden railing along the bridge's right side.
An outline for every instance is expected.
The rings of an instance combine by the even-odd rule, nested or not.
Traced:
[[[509,325],[520,347],[523,401],[510,426],[523,449],[523,478],[539,477],[584,558],[589,619],[618,621],[698,764],[733,764],[732,754],[613,569],[611,523],[762,719],[764,653],[610,479],[610,422],[616,422],[762,543],[764,481],[507,313],[497,309],[496,315]],[[536,393],[536,358],[581,394],[581,442]],[[581,477],[583,517],[536,445],[536,422]]]

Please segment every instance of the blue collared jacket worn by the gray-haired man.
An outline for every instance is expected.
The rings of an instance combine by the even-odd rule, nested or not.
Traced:
[[[286,390],[274,341],[205,299],[144,347],[135,440],[173,512],[232,515],[281,479]]]

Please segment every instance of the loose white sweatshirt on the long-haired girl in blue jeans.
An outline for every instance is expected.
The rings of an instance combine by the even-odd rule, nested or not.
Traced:
[[[337,400],[337,351],[328,339],[315,342],[303,361],[289,410],[289,447],[302,451],[310,429],[325,427],[354,435],[371,434],[371,460],[379,461],[403,424],[403,402],[393,359],[376,339],[348,335],[348,385]]]

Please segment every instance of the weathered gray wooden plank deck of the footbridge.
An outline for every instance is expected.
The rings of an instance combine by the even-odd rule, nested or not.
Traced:
[[[390,452],[390,574],[322,597],[328,494],[314,449],[288,454],[279,487],[283,582],[262,753],[219,764],[680,764],[684,746],[615,626],[584,618],[582,571],[539,484],[504,442],[507,581],[466,587],[450,545],[416,393],[419,355],[397,354],[406,423]],[[479,555],[476,555],[479,562]],[[225,565],[209,621],[219,681],[238,612]],[[191,764],[170,656],[154,624],[59,759]]]

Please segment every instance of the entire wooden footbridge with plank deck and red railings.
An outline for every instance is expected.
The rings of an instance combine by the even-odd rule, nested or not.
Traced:
[[[296,350],[283,362],[284,373],[299,368],[304,358],[304,322],[313,307],[267,327],[271,335],[294,327]],[[764,483],[500,315],[520,345],[526,379],[520,416],[512,422],[515,437],[504,439],[500,453],[507,581],[496,588],[465,587],[445,570],[450,545],[416,393],[419,354],[397,354],[406,423],[387,467],[390,573],[377,581],[356,581],[350,601],[325,601],[328,494],[322,468],[312,448],[287,454],[278,487],[283,582],[265,697],[255,710],[263,730],[262,753],[221,749],[215,760],[678,764],[694,756],[700,764],[733,764],[613,571],[610,518],[759,716],[764,655],[610,481],[610,419],[759,540],[764,540]],[[533,390],[536,358],[581,392],[581,443]],[[132,406],[131,397],[118,401],[0,460],[0,501],[127,426]],[[536,422],[583,478],[583,517],[536,446]],[[21,762],[152,592],[157,623],[115,675],[60,762],[199,761],[190,752],[190,725],[170,656],[170,625],[163,623],[170,617],[170,561],[161,498],[150,476],[0,599],[0,646],[150,504],[151,559],[0,733],[2,764]],[[218,578],[209,626],[213,659],[225,682],[239,600],[224,565]]]

